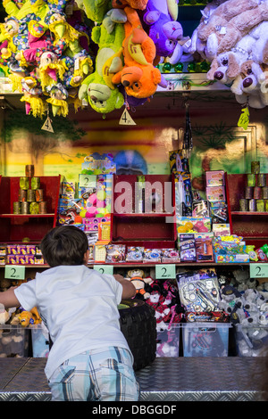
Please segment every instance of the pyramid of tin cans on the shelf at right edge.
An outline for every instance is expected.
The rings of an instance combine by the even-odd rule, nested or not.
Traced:
[[[239,200],[239,210],[268,212],[268,185],[266,175],[260,173],[259,161],[251,163],[251,173],[247,174],[245,198]]]

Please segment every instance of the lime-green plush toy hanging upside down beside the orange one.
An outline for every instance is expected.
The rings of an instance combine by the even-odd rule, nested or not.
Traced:
[[[80,86],[80,100],[85,99],[99,113],[120,109],[124,97],[112,82],[122,68],[122,41],[126,14],[121,9],[111,9],[100,26],[92,29],[92,40],[99,46],[96,70]]]

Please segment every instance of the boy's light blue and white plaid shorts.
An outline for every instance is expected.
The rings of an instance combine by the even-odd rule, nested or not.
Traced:
[[[52,401],[137,401],[130,351],[91,349],[63,362],[48,381]]]

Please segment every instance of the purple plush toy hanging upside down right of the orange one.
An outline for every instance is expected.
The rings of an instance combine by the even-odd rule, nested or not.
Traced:
[[[173,21],[167,0],[148,0],[143,21],[149,26],[149,37],[153,39],[158,57],[172,55],[177,41],[183,36],[180,22]]]

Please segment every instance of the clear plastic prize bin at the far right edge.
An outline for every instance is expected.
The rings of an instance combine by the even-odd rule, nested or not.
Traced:
[[[239,357],[266,356],[268,325],[235,325],[235,339]]]

